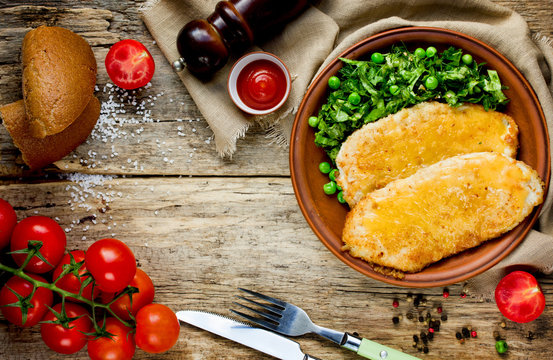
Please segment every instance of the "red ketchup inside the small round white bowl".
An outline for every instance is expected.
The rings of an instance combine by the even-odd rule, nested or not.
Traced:
[[[242,69],[236,87],[244,104],[255,110],[268,110],[284,97],[286,75],[269,60],[255,60]]]

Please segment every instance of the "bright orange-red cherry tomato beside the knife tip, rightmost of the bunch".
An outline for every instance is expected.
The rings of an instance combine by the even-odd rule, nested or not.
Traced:
[[[177,342],[179,332],[177,316],[165,305],[146,305],[136,314],[136,346],[146,352],[169,350]]]

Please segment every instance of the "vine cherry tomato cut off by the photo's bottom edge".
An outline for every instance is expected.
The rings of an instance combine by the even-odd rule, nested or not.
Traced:
[[[99,322],[100,327],[103,320]],[[116,318],[106,319],[106,331],[114,336],[88,340],[88,356],[91,360],[130,360],[134,356],[136,345],[131,328]]]

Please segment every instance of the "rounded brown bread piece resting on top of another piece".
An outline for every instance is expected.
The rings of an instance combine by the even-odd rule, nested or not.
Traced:
[[[83,112],[96,84],[96,59],[81,36],[40,26],[23,39],[23,99],[30,134],[63,131]]]

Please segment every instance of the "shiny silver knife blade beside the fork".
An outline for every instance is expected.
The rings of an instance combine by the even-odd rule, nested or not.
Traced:
[[[320,360],[301,351],[300,344],[273,332],[204,311],[177,311],[177,318],[282,360]]]

